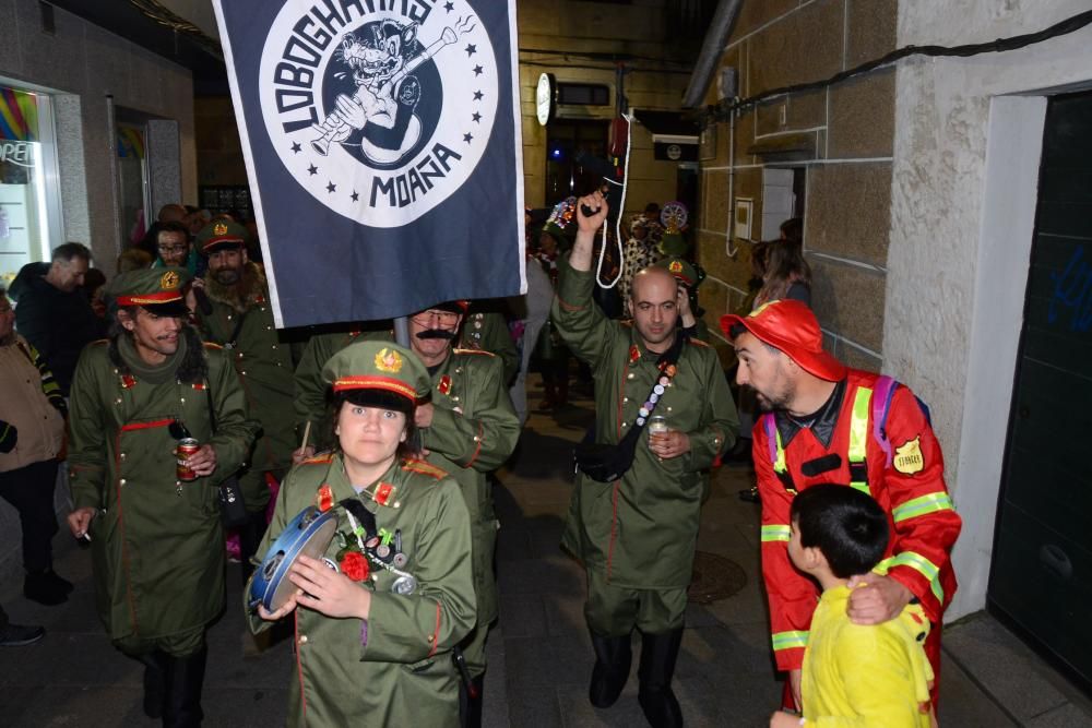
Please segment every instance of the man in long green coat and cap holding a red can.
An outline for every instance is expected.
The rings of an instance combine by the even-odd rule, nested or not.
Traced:
[[[80,357],[70,403],[68,525],[91,541],[107,634],[145,665],[144,711],[167,726],[201,721],[205,628],[224,607],[217,486],[257,430],[227,353],[186,323],[187,275],[114,279],[110,338]],[[176,464],[180,437],[200,447]]]

